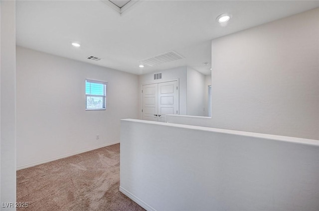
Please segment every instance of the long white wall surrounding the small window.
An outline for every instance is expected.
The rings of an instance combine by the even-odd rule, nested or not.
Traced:
[[[118,142],[138,118],[137,75],[16,49],[18,168]],[[105,111],[85,111],[86,78],[108,82]]]

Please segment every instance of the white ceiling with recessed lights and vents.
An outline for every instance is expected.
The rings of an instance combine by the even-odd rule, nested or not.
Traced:
[[[318,6],[316,0],[140,0],[119,13],[101,0],[19,0],[16,43],[134,74],[180,66],[209,74],[203,63],[211,61],[212,39]],[[216,17],[225,12],[232,19],[221,26]],[[139,68],[138,61],[168,51],[184,59]]]

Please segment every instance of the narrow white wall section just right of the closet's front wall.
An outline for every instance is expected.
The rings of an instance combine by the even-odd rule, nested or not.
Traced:
[[[205,75],[187,67],[187,115],[205,116]]]

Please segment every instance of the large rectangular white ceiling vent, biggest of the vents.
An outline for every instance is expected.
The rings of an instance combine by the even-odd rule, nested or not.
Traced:
[[[140,64],[148,65],[151,67],[167,63],[167,62],[172,62],[176,60],[184,59],[183,56],[180,54],[176,53],[175,51],[169,51],[154,57],[150,57],[144,60],[138,61]]]

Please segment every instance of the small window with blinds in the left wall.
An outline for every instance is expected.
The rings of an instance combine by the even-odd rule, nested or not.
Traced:
[[[98,80],[85,80],[85,110],[105,110],[106,109],[106,87],[108,83]]]

